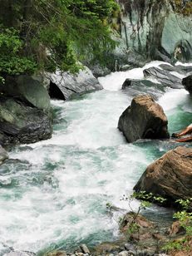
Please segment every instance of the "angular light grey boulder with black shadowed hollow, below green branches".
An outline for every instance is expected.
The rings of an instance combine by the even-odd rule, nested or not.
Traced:
[[[62,100],[103,89],[91,70],[86,66],[83,66],[83,69],[74,75],[69,72],[56,71],[55,73],[47,73],[47,78],[51,81],[50,96],[53,98],[59,97]]]

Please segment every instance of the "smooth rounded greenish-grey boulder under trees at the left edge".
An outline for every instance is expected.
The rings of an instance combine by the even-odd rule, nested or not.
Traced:
[[[32,76],[7,76],[5,84],[0,85],[0,92],[43,111],[49,111],[51,108],[50,96],[46,88]]]

